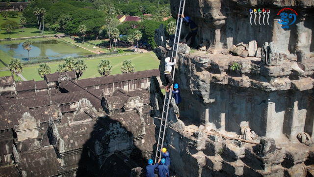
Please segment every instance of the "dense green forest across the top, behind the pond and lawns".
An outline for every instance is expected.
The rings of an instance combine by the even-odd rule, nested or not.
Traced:
[[[78,34],[78,27],[85,25],[86,34],[97,38],[107,36],[108,25],[124,35],[140,30],[142,38],[148,39],[154,47],[154,29],[161,23],[167,26],[174,21],[173,18],[162,21],[163,17],[171,16],[169,3],[169,0],[34,0],[23,11],[23,16],[28,25],[38,27],[40,23],[45,31]],[[36,14],[36,9],[44,11]],[[147,18],[143,16],[145,13],[152,16]],[[116,18],[119,14],[139,16],[142,20],[120,23]]]

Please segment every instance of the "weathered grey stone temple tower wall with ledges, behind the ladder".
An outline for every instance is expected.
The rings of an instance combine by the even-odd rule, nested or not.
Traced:
[[[176,17],[179,1],[170,2]],[[180,118],[171,104],[164,144],[170,174],[314,176],[314,2],[186,0],[185,7],[198,33],[196,50],[182,43],[178,48]],[[288,29],[278,24],[285,7],[298,13]],[[258,16],[255,25],[253,15],[251,26],[250,8],[268,8],[269,25],[259,25]],[[183,25],[180,40],[187,33]],[[154,39],[165,85],[164,59],[171,57],[173,36],[161,25]],[[163,98],[151,90],[157,139]]]

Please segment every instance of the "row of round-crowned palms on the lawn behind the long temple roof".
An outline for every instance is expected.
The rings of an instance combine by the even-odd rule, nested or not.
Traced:
[[[75,71],[77,79],[83,75],[87,70],[87,64],[84,59],[73,59],[72,57],[64,58],[64,63],[58,65],[58,72],[69,72]],[[23,71],[23,63],[19,59],[11,59],[9,63],[10,72],[16,75],[18,80],[18,74]],[[101,59],[98,63],[98,72],[103,76],[110,75],[112,71],[111,61],[109,59]],[[45,78],[47,74],[51,73],[51,68],[47,63],[40,63],[37,69],[38,74],[41,78]],[[124,60],[121,65],[122,73],[130,73],[135,71],[135,66],[132,64],[131,60]]]

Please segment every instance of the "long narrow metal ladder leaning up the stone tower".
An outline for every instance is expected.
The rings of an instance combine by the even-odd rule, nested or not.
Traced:
[[[179,16],[181,16],[184,13],[184,5],[185,5],[185,0],[180,0],[180,7],[179,7],[179,12],[178,12]],[[183,18],[177,19],[176,33],[175,33],[175,38],[174,38],[173,47],[172,47],[173,50],[172,50],[171,59],[173,59],[173,57],[177,59],[182,22],[183,22]],[[172,80],[174,81],[176,67],[174,66],[172,68],[173,68]],[[166,92],[165,99],[163,102],[159,136],[158,136],[158,141],[157,141],[157,150],[156,150],[156,156],[155,156],[155,164],[157,163],[158,159],[161,159],[160,150],[163,148],[163,141],[165,138],[165,131],[166,131],[166,124],[167,124],[167,119],[168,119],[171,94],[172,94],[172,90],[170,88],[169,92]]]

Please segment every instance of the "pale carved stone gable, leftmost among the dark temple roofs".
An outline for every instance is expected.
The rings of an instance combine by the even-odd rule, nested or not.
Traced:
[[[14,131],[17,134],[18,141],[24,141],[28,138],[38,137],[39,120],[36,121],[28,112],[24,113],[22,118],[18,119],[18,124],[14,125]]]

